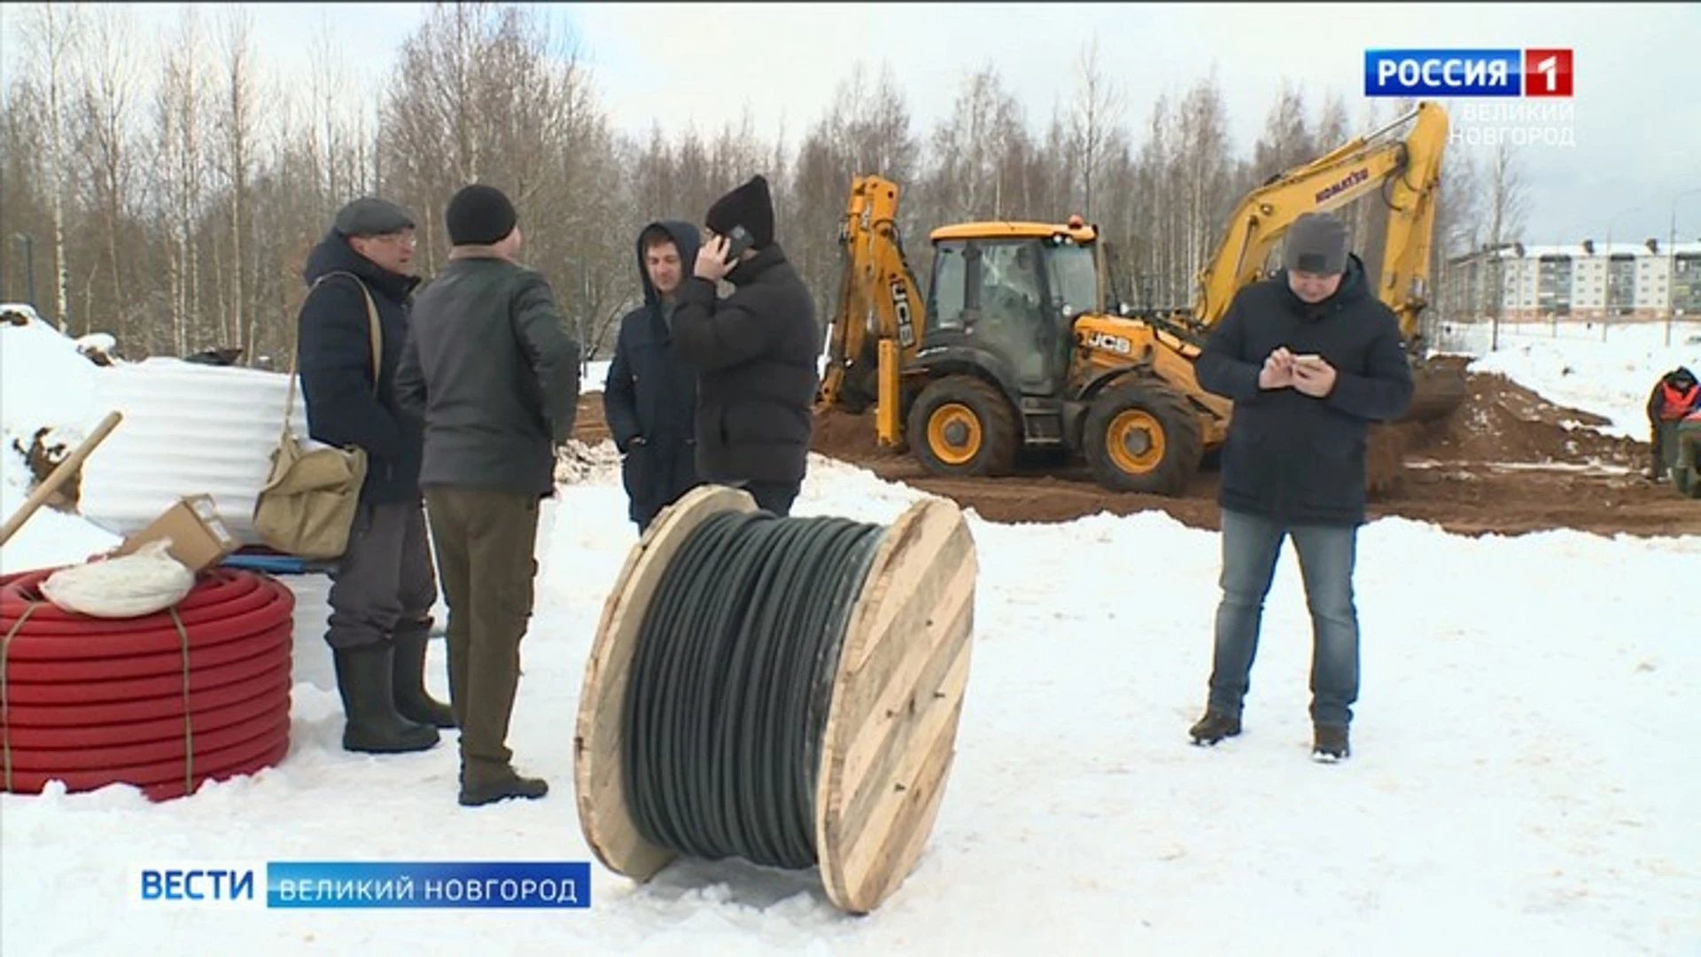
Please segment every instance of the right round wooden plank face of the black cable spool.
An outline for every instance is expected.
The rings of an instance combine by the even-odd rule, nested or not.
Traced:
[[[822,741],[822,884],[852,914],[910,875],[954,758],[975,632],[975,540],[924,499],[891,524],[845,630]]]

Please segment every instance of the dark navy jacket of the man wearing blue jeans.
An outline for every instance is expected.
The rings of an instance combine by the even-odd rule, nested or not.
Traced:
[[[1259,388],[1266,356],[1286,346],[1337,370],[1323,398]],[[1412,366],[1393,310],[1371,296],[1364,262],[1347,261],[1335,295],[1317,305],[1286,271],[1242,289],[1194,363],[1199,385],[1235,402],[1218,502],[1286,524],[1364,523],[1364,443],[1373,421],[1405,414]]]

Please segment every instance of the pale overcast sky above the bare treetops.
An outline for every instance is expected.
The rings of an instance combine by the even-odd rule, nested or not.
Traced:
[[[172,24],[179,7],[133,10],[151,32]],[[216,7],[206,5],[209,14]],[[369,75],[386,68],[422,17],[422,7],[410,3],[253,3],[250,10],[262,61],[291,82],[310,70],[321,17],[350,66]],[[696,121],[699,129],[718,129],[748,107],[759,135],[772,138],[784,124],[791,141],[857,60],[891,66],[920,131],[949,114],[966,72],[995,63],[1038,128],[1073,95],[1077,54],[1095,36],[1131,128],[1145,124],[1158,94],[1184,90],[1215,66],[1232,135],[1245,150],[1283,78],[1301,85],[1313,109],[1323,94],[1342,94],[1357,124],[1368,102],[1361,78],[1368,46],[1572,48],[1577,145],[1521,152],[1526,242],[1604,240],[1609,228],[1616,242],[1664,240],[1674,198],[1701,191],[1701,3],[561,3],[544,10],[594,66],[602,102],[623,128],[641,131],[658,121],[677,131]],[[0,14],[0,29],[3,61],[14,61],[15,5]],[[1677,201],[1675,213],[1679,238],[1701,238],[1701,192]]]

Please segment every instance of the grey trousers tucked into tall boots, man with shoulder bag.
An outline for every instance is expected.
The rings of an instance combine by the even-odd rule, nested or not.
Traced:
[[[425,511],[418,502],[361,502],[349,548],[330,574],[330,620],[325,640],[352,649],[430,632],[437,603]]]

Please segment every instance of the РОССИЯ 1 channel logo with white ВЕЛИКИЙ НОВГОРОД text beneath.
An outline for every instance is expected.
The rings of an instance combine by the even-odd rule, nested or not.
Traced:
[[[1366,49],[1364,95],[1461,99],[1449,143],[1577,146],[1572,48]]]

